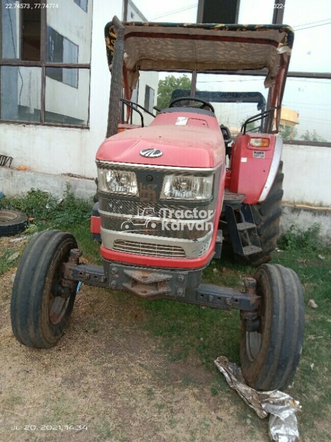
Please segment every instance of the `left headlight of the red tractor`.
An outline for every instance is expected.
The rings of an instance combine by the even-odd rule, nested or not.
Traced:
[[[135,173],[126,170],[98,169],[98,186],[103,192],[132,196],[138,194]]]

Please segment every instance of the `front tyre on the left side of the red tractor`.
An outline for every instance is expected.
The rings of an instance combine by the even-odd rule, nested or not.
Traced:
[[[62,287],[61,265],[76,247],[69,233],[49,230],[39,233],[25,249],[16,272],[10,312],[14,335],[21,344],[49,348],[63,335],[77,284]]]

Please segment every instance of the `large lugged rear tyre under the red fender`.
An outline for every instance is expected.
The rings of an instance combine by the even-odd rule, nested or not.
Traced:
[[[245,261],[250,264],[268,263],[271,259],[271,252],[277,247],[284,193],[282,169],[283,162],[281,161],[267,198],[261,203],[251,205],[262,252],[245,256]]]

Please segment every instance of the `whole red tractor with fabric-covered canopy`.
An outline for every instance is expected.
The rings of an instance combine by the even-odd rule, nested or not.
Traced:
[[[149,300],[235,308],[246,382],[260,390],[286,388],[302,347],[302,288],[291,269],[265,263],[279,233],[283,142],[273,134],[292,29],[122,23],[114,17],[105,39],[112,71],[108,138],[96,155],[98,202],[91,219],[94,237],[101,236],[103,266],[79,263],[81,252],[69,233],[40,233],[26,248],[13,286],[17,340],[37,348],[56,344],[79,281]],[[172,100],[144,127],[143,113],[130,101],[144,70],[265,73],[267,110],[245,121],[231,148],[229,129],[198,96]],[[128,113],[121,120],[121,106],[138,112],[142,127],[129,124]],[[263,133],[247,131],[260,120]],[[221,256],[223,231],[237,256],[260,265],[243,291],[201,283],[203,269]]]

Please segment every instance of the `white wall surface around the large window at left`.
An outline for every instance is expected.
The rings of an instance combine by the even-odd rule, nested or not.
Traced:
[[[105,138],[111,80],[103,29],[114,15],[122,17],[122,2],[93,3],[90,129],[0,123],[0,154],[14,158],[12,167],[26,165],[42,173],[96,176],[95,153]],[[0,175],[0,185],[1,179]]]

